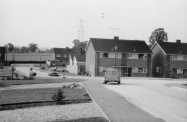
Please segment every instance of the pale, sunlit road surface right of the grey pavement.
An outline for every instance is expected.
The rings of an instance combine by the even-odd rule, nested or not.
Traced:
[[[142,110],[167,122],[187,122],[187,82],[177,79],[123,78],[121,85],[105,85]]]

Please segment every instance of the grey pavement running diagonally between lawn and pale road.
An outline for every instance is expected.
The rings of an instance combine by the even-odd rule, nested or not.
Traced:
[[[131,104],[118,93],[107,89],[100,81],[100,79],[90,79],[84,84],[111,122],[165,122]]]

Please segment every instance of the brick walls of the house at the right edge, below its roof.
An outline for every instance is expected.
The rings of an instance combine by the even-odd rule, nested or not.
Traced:
[[[173,55],[166,55],[165,52],[156,44],[152,48],[153,56],[152,56],[152,73],[153,76],[156,77],[187,77],[187,61],[181,60],[172,60]],[[156,72],[156,67],[160,67],[160,72]],[[176,70],[182,70],[181,73],[175,73],[173,68]]]

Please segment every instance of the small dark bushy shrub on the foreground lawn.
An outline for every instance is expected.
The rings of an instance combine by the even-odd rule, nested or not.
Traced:
[[[64,92],[62,91],[61,88],[57,90],[57,92],[52,96],[52,99],[57,103],[57,104],[63,104],[63,99],[65,98]]]

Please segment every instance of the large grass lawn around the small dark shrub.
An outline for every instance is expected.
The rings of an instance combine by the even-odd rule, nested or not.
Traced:
[[[0,91],[0,110],[56,105],[52,97],[59,88],[2,90]],[[82,86],[75,88],[64,87],[61,89],[65,96],[64,104],[91,101],[91,98]]]

